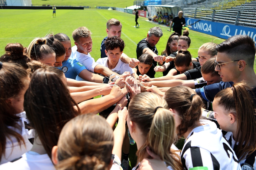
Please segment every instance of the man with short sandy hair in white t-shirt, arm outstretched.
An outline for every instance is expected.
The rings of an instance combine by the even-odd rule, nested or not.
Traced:
[[[107,67],[104,67],[98,63],[95,63],[94,58],[89,54],[92,51],[92,32],[86,27],[79,27],[73,31],[72,37],[76,46],[72,47],[71,58],[76,59],[82,63],[87,70],[92,73],[100,73],[106,77],[115,74],[121,78],[126,78],[130,74],[118,75]]]

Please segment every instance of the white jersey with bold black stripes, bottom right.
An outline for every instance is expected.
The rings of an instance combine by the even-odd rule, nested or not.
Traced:
[[[181,161],[186,170],[237,170],[238,159],[214,122],[200,120],[185,141]]]

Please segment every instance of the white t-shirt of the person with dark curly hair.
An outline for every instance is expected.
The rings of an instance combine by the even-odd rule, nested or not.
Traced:
[[[108,67],[108,58],[99,58],[96,63],[103,65],[105,67]],[[118,73],[118,74],[123,74],[125,71],[130,71],[130,74],[134,73],[133,69],[129,66],[129,64],[126,64],[122,62],[120,59],[118,60],[117,65],[115,66],[114,69],[111,69],[112,71]]]

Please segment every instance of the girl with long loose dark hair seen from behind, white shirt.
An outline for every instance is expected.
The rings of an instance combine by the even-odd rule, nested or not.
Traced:
[[[79,115],[80,110],[62,80],[46,69],[36,70],[31,77],[24,110],[34,128],[33,147],[20,159],[3,164],[0,169],[54,170],[52,147],[57,145],[63,126]]]

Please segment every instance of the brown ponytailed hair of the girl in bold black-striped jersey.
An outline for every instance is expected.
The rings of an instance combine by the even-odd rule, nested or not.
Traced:
[[[182,136],[201,117],[202,99],[186,86],[172,87],[164,94],[168,107],[176,110],[181,118],[177,134]]]

